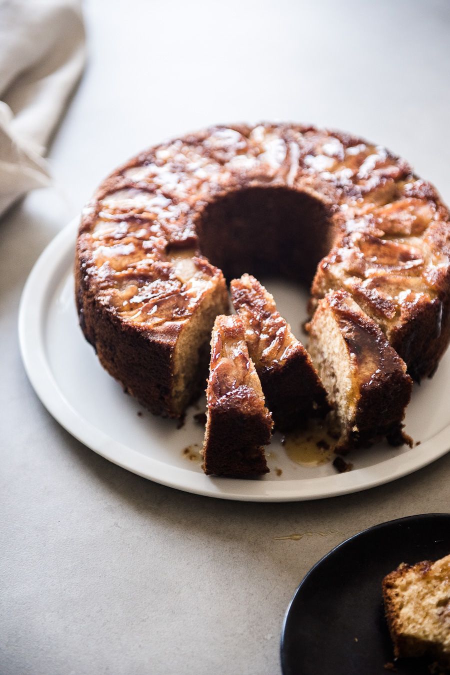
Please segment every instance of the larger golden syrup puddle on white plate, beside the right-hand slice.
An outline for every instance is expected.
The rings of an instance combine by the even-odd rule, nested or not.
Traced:
[[[323,423],[312,421],[307,429],[290,431],[282,438],[286,454],[300,466],[321,466],[335,457],[336,440],[331,437]]]

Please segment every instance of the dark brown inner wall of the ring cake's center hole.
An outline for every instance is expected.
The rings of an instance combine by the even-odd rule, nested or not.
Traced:
[[[317,263],[331,248],[329,210],[288,188],[229,192],[199,217],[201,252],[227,281],[248,272],[311,284]]]

